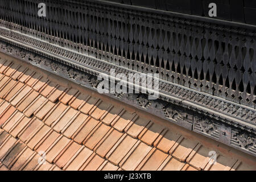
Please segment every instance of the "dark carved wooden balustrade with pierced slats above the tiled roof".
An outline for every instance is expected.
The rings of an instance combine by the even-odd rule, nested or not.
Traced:
[[[39,17],[40,2],[0,0],[0,51],[92,89],[113,68],[159,73],[158,100],[108,95],[256,155],[254,25],[78,0]]]

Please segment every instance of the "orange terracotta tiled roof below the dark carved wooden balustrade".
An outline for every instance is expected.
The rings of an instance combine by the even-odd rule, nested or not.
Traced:
[[[195,139],[11,59],[0,59],[0,126],[0,170],[256,169],[219,151],[210,164]]]

